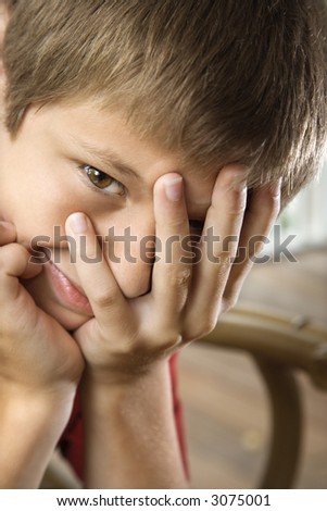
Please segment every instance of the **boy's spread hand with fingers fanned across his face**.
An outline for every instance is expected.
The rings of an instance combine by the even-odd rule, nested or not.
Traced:
[[[155,236],[161,247],[169,247],[169,261],[165,254],[158,258],[150,291],[134,299],[124,297],[105,258],[88,264],[80,257],[81,237],[89,260],[99,253],[90,220],[83,213],[67,219],[66,233],[77,244],[79,282],[95,313],[74,336],[92,373],[141,370],[209,334],[219,314],[236,302],[260,250],[257,241],[268,235],[280,202],[278,184],[247,197],[243,176],[244,170],[235,165],[218,174],[194,249],[197,262],[187,250],[190,232],[181,177],[166,174],[158,179]]]

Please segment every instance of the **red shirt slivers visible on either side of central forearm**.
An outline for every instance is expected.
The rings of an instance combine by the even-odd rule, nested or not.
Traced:
[[[176,431],[185,472],[188,475],[188,462],[183,425],[183,410],[177,392],[177,353],[171,358],[169,369]],[[70,461],[78,477],[83,479],[83,414],[78,392],[75,398],[70,422],[60,439],[59,446],[63,456]]]

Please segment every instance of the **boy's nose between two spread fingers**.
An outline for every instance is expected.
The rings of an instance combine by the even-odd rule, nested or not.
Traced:
[[[154,234],[154,219],[149,210],[128,219],[112,219],[106,230],[103,253],[126,298],[137,298],[151,289]]]

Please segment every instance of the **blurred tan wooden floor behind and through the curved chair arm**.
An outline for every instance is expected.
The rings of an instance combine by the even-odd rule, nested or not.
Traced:
[[[256,265],[239,303],[307,316],[327,325],[327,250],[298,254],[298,263]],[[327,488],[327,392],[298,375],[305,412],[295,488]],[[269,439],[267,401],[246,354],[201,341],[180,357],[191,487],[254,488]]]

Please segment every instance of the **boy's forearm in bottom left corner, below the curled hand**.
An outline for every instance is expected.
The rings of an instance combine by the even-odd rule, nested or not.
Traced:
[[[0,396],[0,488],[36,488],[70,419],[73,395]],[[23,428],[23,431],[22,431]]]

